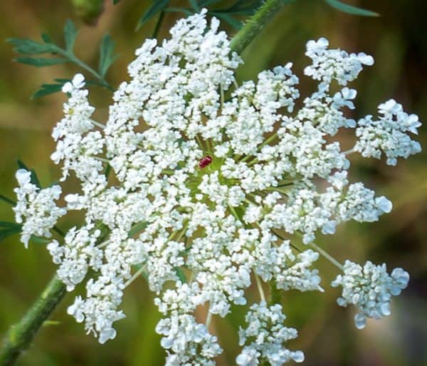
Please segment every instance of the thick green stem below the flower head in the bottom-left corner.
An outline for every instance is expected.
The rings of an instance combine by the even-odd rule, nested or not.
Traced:
[[[43,293],[18,323],[11,326],[0,350],[0,365],[14,365],[23,350],[26,350],[43,322],[51,315],[66,292],[65,285],[53,276]]]

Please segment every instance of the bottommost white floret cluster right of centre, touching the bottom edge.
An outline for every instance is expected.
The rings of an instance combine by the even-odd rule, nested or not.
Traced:
[[[283,324],[286,317],[279,304],[267,306],[265,301],[253,304],[246,314],[248,328],[239,330],[239,343],[245,345],[236,358],[237,365],[256,366],[263,360],[271,366],[282,366],[289,360],[304,361],[304,353],[290,351],[283,346],[297,338],[297,330]]]

